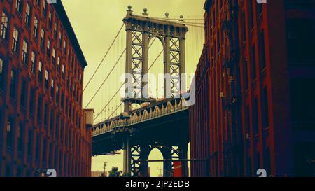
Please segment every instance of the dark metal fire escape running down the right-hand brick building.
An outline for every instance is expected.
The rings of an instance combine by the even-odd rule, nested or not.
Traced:
[[[241,87],[239,71],[239,29],[237,0],[229,0],[229,10],[223,21],[223,30],[228,35],[228,56],[225,57],[223,71],[225,71],[226,95],[223,95],[223,106],[228,115],[229,139],[224,145],[225,176],[239,176],[243,170],[241,160]],[[237,120],[239,119],[239,120]],[[230,136],[231,135],[231,136]]]

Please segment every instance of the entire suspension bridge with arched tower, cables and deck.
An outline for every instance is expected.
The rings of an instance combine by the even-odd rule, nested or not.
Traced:
[[[203,48],[203,20],[168,13],[152,17],[146,8],[136,14],[128,7],[84,87],[90,95],[85,108],[95,110],[92,156],[124,150],[125,174],[148,176],[148,155],[158,148],[166,159],[164,176],[172,175],[174,160],[182,160],[187,176],[193,74],[186,73],[195,71]],[[161,73],[163,78],[156,80]]]

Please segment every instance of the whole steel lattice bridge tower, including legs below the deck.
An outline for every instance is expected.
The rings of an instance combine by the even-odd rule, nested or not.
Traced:
[[[165,14],[166,16],[168,13]],[[123,19],[126,27],[126,64],[125,73],[131,78],[125,81],[126,97],[123,99],[125,113],[130,113],[132,104],[144,102],[154,102],[148,99],[148,52],[149,42],[153,38],[158,38],[162,42],[164,52],[164,74],[169,76],[164,80],[164,97],[174,98],[181,96],[181,92],[186,92],[185,62],[185,40],[188,28],[179,22],[161,20],[148,17],[146,8],[142,15],[134,15],[132,7],[128,6],[127,15]],[[124,142],[124,172],[125,174],[141,174],[146,176],[148,162],[139,162],[148,159],[148,145],[135,145],[130,142],[130,137],[126,136]],[[182,153],[187,153],[187,143],[183,143]],[[172,150],[164,150],[168,153],[164,157],[172,158]],[[183,157],[187,157],[184,155]],[[182,164],[183,171],[187,164]],[[165,167],[172,170],[172,162],[165,162]]]

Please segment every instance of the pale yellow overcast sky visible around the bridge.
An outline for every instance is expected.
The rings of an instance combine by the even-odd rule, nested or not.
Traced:
[[[104,57],[104,53],[109,48],[114,36],[122,26],[123,17],[126,15],[128,5],[132,5],[132,10],[135,14],[141,14],[143,8],[148,8],[148,14],[153,17],[162,17],[166,12],[169,17],[179,17],[184,15],[185,18],[201,18],[204,15],[204,1],[205,0],[62,0],[66,13],[71,21],[72,27],[76,33],[80,46],[83,50],[88,66],[85,68],[85,84],[90,79],[92,73],[97,68],[99,62]],[[202,22],[202,21],[200,21]],[[187,35],[186,41],[186,70],[187,73],[194,73],[195,66],[200,57],[202,50],[203,39],[202,28],[191,28]],[[125,48],[125,31],[118,37],[117,43],[113,46],[109,56],[106,57],[102,67],[99,69],[96,77],[89,85],[83,94],[83,106],[86,106],[90,101],[94,92],[104,80],[104,76],[109,72],[113,63],[118,59],[121,52]],[[160,51],[158,45],[153,46],[152,55],[154,57],[156,52]],[[152,58],[153,59],[153,58]],[[151,59],[151,60],[152,60]],[[162,58],[160,58],[162,59]],[[158,62],[161,62],[160,60]],[[119,74],[125,68],[125,57],[121,59],[118,64],[118,70],[114,71],[116,75],[104,84],[102,90],[93,99],[89,108],[94,108],[96,113],[99,113],[104,105],[109,101],[111,95],[115,91],[115,87],[120,85]],[[155,66],[157,72],[160,66]],[[153,70],[154,67],[153,67]],[[116,103],[109,106],[107,113],[102,113],[99,120],[104,120],[109,116],[111,110],[119,104],[120,97],[117,97]],[[119,112],[119,111],[118,111]],[[151,159],[158,159],[159,153],[151,153]],[[123,156],[99,156],[92,158],[92,170],[101,171],[103,169],[104,161],[108,162],[108,168],[117,166],[123,169]],[[162,164],[152,164],[151,174],[158,175],[158,167]]]

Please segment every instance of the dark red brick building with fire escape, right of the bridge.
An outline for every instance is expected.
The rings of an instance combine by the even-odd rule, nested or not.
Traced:
[[[192,176],[315,175],[314,1],[207,0]]]

